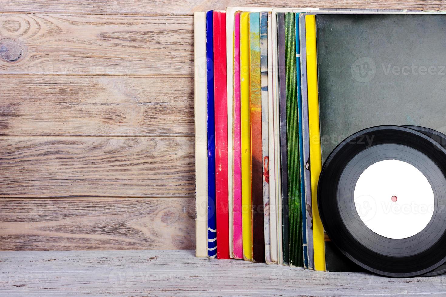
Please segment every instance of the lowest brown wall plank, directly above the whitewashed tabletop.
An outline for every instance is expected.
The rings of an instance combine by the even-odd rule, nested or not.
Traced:
[[[0,250],[194,248],[194,198],[1,199]]]

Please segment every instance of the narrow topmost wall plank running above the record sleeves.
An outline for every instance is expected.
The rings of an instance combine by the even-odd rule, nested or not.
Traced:
[[[140,15],[192,15],[195,11],[224,10],[227,7],[314,7],[446,9],[444,0],[11,0],[1,12],[66,12]]]

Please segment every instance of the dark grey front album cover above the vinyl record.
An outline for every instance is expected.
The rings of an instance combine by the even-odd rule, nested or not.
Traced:
[[[320,14],[316,28],[322,163],[371,126],[446,132],[446,15]]]

